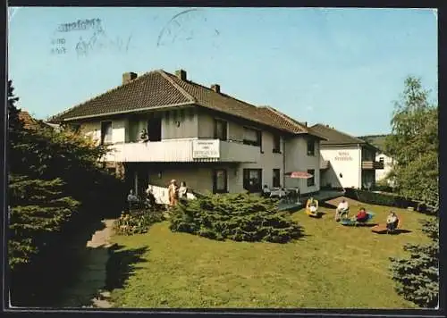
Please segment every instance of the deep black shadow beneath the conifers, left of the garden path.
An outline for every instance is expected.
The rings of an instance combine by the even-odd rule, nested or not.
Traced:
[[[87,259],[93,253],[104,253],[105,247],[86,247],[92,235],[104,228],[101,220],[89,219],[82,228],[67,229],[32,264],[13,272],[10,276],[12,305],[61,306],[63,291],[79,279]],[[101,249],[103,252],[99,252]]]

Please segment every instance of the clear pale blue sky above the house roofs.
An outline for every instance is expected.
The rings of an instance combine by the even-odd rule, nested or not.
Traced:
[[[14,8],[8,76],[20,107],[45,119],[119,86],[123,72],[155,69],[184,69],[200,84],[218,83],[251,104],[352,135],[390,131],[392,101],[408,75],[420,77],[435,101],[432,10],[186,10]],[[87,54],[76,46],[92,29],[56,31],[61,23],[96,18],[107,39]],[[64,38],[65,54],[51,53],[57,38]]]

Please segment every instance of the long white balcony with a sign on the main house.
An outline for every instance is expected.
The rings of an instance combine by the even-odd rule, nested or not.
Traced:
[[[114,144],[105,161],[119,163],[257,163],[257,146],[218,139],[168,139]]]

